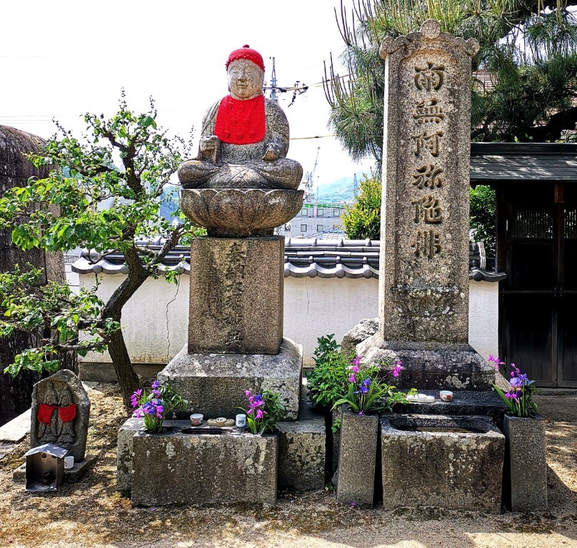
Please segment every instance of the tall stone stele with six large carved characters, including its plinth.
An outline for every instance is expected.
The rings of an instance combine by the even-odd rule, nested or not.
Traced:
[[[361,343],[403,360],[403,386],[483,390],[491,367],[468,345],[471,56],[428,20],[387,38],[379,330]],[[390,353],[390,352],[389,352]]]

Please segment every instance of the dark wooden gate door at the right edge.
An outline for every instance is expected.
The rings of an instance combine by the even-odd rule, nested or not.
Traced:
[[[523,184],[498,200],[501,357],[540,386],[576,387],[576,192]]]

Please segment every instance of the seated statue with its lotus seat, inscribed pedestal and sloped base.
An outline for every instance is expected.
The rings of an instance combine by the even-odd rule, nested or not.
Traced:
[[[301,209],[302,168],[286,158],[289,123],[263,95],[262,56],[226,61],[229,95],[204,116],[199,154],[179,167],[181,209],[208,235],[191,245],[188,345],[159,374],[190,410],[231,416],[244,390],[274,390],[296,420],[302,349],[283,338],[284,238]]]

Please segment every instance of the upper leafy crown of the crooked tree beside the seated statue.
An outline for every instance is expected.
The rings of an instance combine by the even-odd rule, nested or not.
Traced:
[[[86,141],[59,126],[62,137],[54,136],[42,153],[29,157],[37,168],[49,166],[49,175],[6,192],[0,228],[11,230],[14,244],[24,250],[80,247],[101,254],[125,251],[134,238],[184,234],[184,222],[168,223],[159,207],[190,143],[169,138],[157,126],[154,103],[137,115],[127,108],[124,94],[109,120],[91,114],[84,119]]]

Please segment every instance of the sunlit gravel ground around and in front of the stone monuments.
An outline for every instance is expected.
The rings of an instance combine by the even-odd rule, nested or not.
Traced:
[[[541,395],[548,443],[550,508],[498,516],[441,509],[359,509],[330,491],[281,493],[279,504],[133,508],[115,491],[116,432],[126,413],[114,385],[92,401],[94,469],[54,494],[28,494],[11,481],[29,447],[0,461],[0,547],[577,548],[577,394]]]

